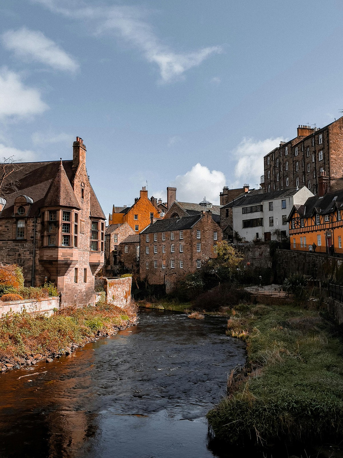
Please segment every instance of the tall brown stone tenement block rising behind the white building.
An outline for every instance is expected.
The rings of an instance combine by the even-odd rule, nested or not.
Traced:
[[[343,117],[321,129],[299,125],[295,138],[264,157],[265,192],[306,186],[316,195],[321,175],[328,192],[343,188]]]

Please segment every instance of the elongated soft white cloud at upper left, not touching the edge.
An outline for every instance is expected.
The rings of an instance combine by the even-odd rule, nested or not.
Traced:
[[[56,70],[76,71],[79,67],[70,55],[42,32],[22,27],[3,33],[1,40],[5,48],[14,51],[19,58],[41,62]]]

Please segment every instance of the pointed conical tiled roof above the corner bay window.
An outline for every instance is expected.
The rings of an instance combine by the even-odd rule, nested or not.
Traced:
[[[77,202],[73,188],[65,173],[62,159],[59,164],[57,174],[52,180],[51,185],[44,199],[44,207],[72,207],[80,210],[80,204]]]

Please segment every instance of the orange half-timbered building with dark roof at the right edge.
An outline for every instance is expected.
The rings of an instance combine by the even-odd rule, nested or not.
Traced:
[[[343,190],[307,199],[289,214],[291,250],[343,253]]]

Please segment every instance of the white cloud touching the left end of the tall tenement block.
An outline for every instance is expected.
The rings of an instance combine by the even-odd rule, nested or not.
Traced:
[[[251,188],[256,187],[263,175],[263,157],[284,141],[283,137],[258,141],[244,138],[233,151],[237,159],[233,187],[241,187],[244,183],[248,183]]]

